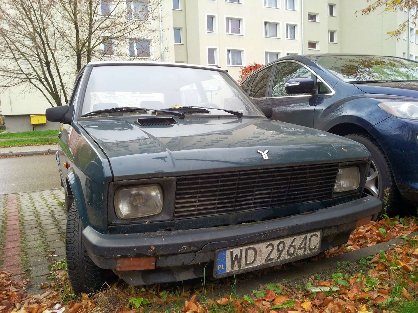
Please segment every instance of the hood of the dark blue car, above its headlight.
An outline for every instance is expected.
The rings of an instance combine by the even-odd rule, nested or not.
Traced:
[[[354,84],[365,93],[380,93],[393,96],[418,98],[418,81],[394,81],[384,83]]]

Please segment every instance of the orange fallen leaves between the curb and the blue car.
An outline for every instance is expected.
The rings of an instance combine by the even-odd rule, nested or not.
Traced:
[[[408,236],[418,231],[415,217],[384,218],[355,229],[346,245],[332,248],[325,252],[327,257],[333,257],[345,252],[359,250],[364,247],[386,242],[396,237]]]

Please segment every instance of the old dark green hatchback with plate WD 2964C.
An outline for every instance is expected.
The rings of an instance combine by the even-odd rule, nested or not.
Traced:
[[[224,277],[317,255],[377,217],[355,141],[269,120],[220,68],[93,62],[56,159],[76,293]]]

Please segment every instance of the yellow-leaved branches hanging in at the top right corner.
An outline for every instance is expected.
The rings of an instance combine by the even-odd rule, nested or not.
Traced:
[[[378,8],[384,9],[384,12],[407,11],[410,13],[408,18],[397,29],[387,32],[388,35],[395,37],[397,40],[408,29],[408,25],[414,28],[417,25],[418,0],[367,0],[367,2],[372,3],[367,8],[361,10],[362,15],[370,14]]]

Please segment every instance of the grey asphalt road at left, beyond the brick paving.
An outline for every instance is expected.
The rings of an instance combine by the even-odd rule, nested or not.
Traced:
[[[61,188],[55,154],[0,159],[0,194]]]

